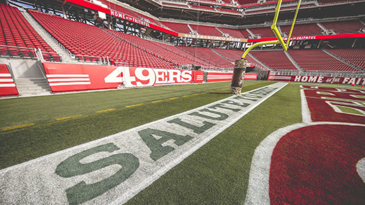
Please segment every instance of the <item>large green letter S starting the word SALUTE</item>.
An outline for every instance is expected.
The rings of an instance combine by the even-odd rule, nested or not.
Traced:
[[[77,153],[59,163],[55,173],[60,177],[69,178],[77,175],[91,173],[110,165],[122,166],[114,175],[93,184],[84,181],[66,189],[69,204],[78,205],[85,201],[100,196],[115,186],[128,179],[139,167],[139,160],[130,153],[120,153],[108,156],[94,162],[82,164],[80,160],[98,152],[114,152],[119,150],[113,143],[103,144],[97,147]]]

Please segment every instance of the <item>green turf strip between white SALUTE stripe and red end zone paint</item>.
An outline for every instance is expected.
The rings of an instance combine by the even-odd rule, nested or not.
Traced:
[[[302,121],[299,90],[285,86],[127,204],[243,204],[255,148],[271,132]]]

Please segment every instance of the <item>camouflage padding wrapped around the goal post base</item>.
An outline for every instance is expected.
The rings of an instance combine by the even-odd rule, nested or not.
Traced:
[[[247,60],[237,60],[234,65],[230,93],[241,94],[243,76],[245,76]]]

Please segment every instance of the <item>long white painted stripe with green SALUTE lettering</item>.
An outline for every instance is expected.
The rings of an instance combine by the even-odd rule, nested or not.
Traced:
[[[0,170],[2,204],[122,204],[252,111],[278,82]]]

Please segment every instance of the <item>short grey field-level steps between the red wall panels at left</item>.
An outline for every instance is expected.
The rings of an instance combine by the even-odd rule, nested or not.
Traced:
[[[19,95],[22,97],[49,95],[51,93],[45,78],[16,78],[15,84]]]

